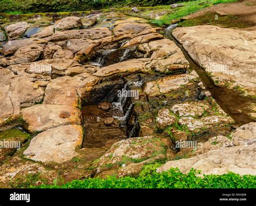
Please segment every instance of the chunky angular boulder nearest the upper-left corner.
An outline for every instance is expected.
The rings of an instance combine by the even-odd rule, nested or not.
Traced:
[[[8,35],[8,39],[13,40],[21,37],[28,27],[29,24],[26,22],[17,22],[16,24],[6,26],[5,31]]]

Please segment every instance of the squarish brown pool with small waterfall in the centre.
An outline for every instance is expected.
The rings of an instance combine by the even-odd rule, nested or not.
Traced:
[[[89,102],[92,96],[85,100],[82,108],[83,148],[110,148],[117,141],[137,135],[137,120],[131,121],[134,119],[134,103],[131,96],[127,95],[131,91],[130,84],[134,82],[120,79],[110,88],[105,86],[93,91],[92,96],[104,96],[100,101]]]

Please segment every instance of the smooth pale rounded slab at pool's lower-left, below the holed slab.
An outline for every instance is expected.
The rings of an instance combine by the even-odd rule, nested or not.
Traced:
[[[82,126],[59,126],[39,133],[23,154],[34,161],[60,164],[78,154],[76,148],[82,145],[82,141]]]

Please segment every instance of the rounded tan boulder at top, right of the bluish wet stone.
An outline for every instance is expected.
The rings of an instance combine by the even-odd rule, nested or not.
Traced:
[[[65,17],[63,19],[58,20],[54,24],[54,29],[56,31],[70,30],[77,27],[82,27],[83,24],[79,17]]]

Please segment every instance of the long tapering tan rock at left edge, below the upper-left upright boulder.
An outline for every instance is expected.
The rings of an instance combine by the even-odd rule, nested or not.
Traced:
[[[39,38],[29,38],[29,39],[21,39],[21,40],[12,40],[8,41],[4,46],[3,46],[3,54],[4,55],[10,55],[14,54],[18,48],[21,48],[26,45],[31,45],[31,44],[46,44],[47,41],[44,39],[39,39]]]

